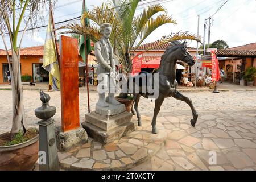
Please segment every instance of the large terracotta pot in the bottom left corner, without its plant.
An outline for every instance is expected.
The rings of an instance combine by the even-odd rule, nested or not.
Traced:
[[[39,134],[24,143],[0,146],[0,171],[29,171],[38,160]]]

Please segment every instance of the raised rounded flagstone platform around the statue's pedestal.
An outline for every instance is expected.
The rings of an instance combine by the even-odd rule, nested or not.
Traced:
[[[133,120],[136,117],[133,117]],[[143,126],[126,137],[102,145],[89,142],[68,152],[59,152],[60,167],[64,170],[126,170],[152,158],[166,143],[167,132],[158,123],[158,134],[151,133],[151,117],[143,117]]]

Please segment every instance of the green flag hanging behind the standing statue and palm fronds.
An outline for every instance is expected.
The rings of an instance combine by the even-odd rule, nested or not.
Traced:
[[[87,12],[87,6],[85,1],[82,3],[82,14],[84,14],[84,12]],[[88,27],[90,25],[89,19],[85,18],[84,20],[82,20],[81,22],[83,25],[85,24],[86,27]],[[86,38],[86,51],[87,51],[87,55],[92,52],[92,47],[90,44],[90,39]],[[80,39],[79,39],[79,53],[82,57],[82,59],[84,60],[85,63],[85,59],[86,59],[86,55],[85,55],[85,44],[84,44],[84,35],[80,35]]]

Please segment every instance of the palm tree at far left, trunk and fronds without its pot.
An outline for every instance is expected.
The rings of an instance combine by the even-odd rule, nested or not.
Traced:
[[[11,138],[16,133],[26,133],[28,126],[23,106],[23,90],[20,76],[20,49],[22,38],[27,27],[34,28],[38,20],[42,19],[40,10],[46,5],[47,0],[0,0],[0,33],[6,49],[7,60],[11,76],[11,88],[13,92],[13,125]],[[18,42],[20,25],[24,25],[24,31]],[[5,32],[10,39],[11,51],[8,51],[5,40]],[[10,60],[10,53],[11,59]]]

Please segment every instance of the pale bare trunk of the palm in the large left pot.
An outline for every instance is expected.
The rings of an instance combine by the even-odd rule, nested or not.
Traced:
[[[12,53],[13,65],[10,66],[9,64],[11,75],[11,88],[13,91],[13,125],[11,127],[11,138],[13,138],[14,135],[19,131],[21,131],[22,134],[26,133],[28,129],[23,105],[23,90],[20,75],[20,61],[14,49]]]

